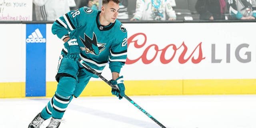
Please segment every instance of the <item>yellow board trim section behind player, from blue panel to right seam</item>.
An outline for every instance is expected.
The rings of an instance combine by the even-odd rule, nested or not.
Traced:
[[[46,96],[52,97],[57,82],[47,82]],[[181,95],[182,80],[125,81],[126,94],[131,95]],[[90,81],[80,96],[111,96],[111,88],[104,81]]]

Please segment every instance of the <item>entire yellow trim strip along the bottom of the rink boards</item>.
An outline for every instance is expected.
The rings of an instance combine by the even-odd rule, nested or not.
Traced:
[[[52,97],[57,82],[46,82],[46,97]],[[256,94],[256,79],[233,80],[131,80],[124,82],[126,95]],[[0,98],[25,97],[25,82],[0,83]],[[90,81],[80,96],[111,96],[103,81]]]

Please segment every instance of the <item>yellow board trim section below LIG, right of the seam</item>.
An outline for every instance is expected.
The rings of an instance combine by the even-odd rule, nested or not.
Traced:
[[[184,80],[183,94],[256,94],[256,79]]]

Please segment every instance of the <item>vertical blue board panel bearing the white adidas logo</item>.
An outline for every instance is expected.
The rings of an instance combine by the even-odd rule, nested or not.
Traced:
[[[46,24],[26,24],[26,96],[46,95]]]

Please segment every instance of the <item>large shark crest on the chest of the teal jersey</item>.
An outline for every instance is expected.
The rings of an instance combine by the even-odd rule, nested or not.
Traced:
[[[99,55],[100,52],[105,50],[105,44],[97,42],[97,38],[94,32],[92,39],[84,33],[84,39],[80,36],[80,40],[85,46],[80,48],[81,50],[85,51],[86,54],[90,53],[94,55]]]

